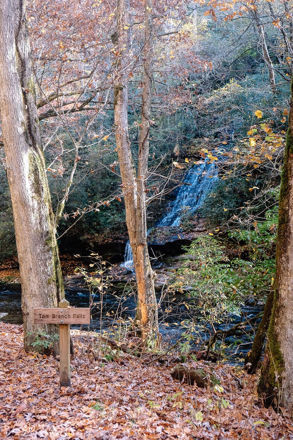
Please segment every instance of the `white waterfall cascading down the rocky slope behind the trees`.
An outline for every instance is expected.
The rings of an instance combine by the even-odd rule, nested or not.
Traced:
[[[203,204],[217,179],[217,166],[215,162],[209,164],[208,158],[203,163],[193,166],[186,173],[185,184],[179,188],[176,199],[171,202],[170,211],[158,221],[156,226],[180,226],[184,208],[190,209],[188,214],[195,213]],[[126,243],[124,261],[120,267],[134,270],[133,253],[129,240]]]

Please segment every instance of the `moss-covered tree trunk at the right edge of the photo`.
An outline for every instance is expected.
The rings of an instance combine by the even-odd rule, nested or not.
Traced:
[[[293,80],[279,196],[275,294],[259,390],[268,405],[293,410]]]

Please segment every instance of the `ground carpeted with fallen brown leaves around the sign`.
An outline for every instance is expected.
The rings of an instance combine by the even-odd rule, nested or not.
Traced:
[[[72,388],[60,391],[58,359],[25,353],[22,326],[0,323],[0,337],[1,439],[293,439],[239,367],[193,361],[219,379],[202,389],[134,356],[94,360],[94,334],[72,330]]]

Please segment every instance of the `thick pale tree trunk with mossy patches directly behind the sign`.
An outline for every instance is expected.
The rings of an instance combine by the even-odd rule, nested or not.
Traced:
[[[22,282],[24,348],[38,329],[33,308],[64,297],[54,215],[41,147],[25,1],[0,1],[0,115]],[[11,310],[13,313],[13,310]],[[50,336],[56,326],[47,325]]]

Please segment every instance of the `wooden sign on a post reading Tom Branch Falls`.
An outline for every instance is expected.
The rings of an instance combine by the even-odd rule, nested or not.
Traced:
[[[71,386],[70,324],[90,324],[90,308],[69,308],[69,301],[59,302],[59,308],[35,308],[35,324],[59,324],[60,389]]]

